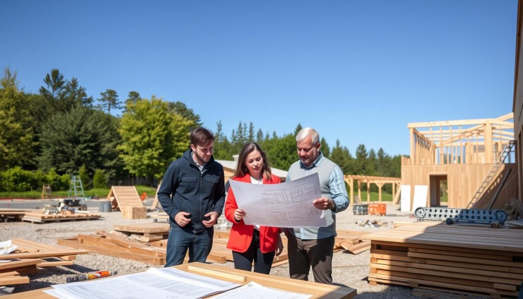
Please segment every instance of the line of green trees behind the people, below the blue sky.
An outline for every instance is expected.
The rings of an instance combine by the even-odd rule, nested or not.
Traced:
[[[83,181],[91,181],[95,172],[98,181],[100,173],[112,180],[128,176],[158,179],[188,149],[190,131],[203,125],[200,116],[180,101],[145,98],[137,91],[129,91],[121,101],[109,88],[94,99],[75,77],[66,79],[58,69],[44,76],[38,93],[21,90],[17,73],[9,68],[0,85],[3,172],[18,167],[81,174]],[[111,115],[119,109],[121,117]],[[294,136],[300,124],[281,136],[242,121],[230,135],[223,132],[221,120],[215,126],[207,126],[215,133],[215,159],[232,160],[251,141],[267,152],[273,167],[287,170],[298,159]],[[375,152],[360,144],[353,156],[338,140],[332,148],[324,138],[321,143],[323,154],[345,174],[400,176],[400,156],[391,157],[382,148]],[[5,181],[6,176],[0,175],[0,180]]]

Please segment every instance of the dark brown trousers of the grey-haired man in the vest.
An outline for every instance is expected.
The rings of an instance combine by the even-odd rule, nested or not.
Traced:
[[[315,282],[332,284],[333,249],[334,236],[317,240],[302,240],[289,234],[287,252],[291,278],[309,280],[312,265]]]

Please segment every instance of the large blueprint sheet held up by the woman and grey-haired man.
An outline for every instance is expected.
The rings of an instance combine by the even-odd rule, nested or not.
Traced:
[[[274,227],[325,227],[323,211],[312,202],[322,197],[317,173],[281,184],[229,180],[245,224]]]

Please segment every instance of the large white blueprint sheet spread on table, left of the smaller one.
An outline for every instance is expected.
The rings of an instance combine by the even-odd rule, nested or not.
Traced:
[[[240,285],[178,269],[149,268],[112,278],[56,284],[44,292],[61,299],[194,299],[237,286]]]

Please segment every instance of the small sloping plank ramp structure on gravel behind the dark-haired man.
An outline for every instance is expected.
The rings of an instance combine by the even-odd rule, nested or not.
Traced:
[[[107,200],[112,201],[113,209],[120,209],[123,219],[147,218],[147,208],[134,186],[112,186]]]

